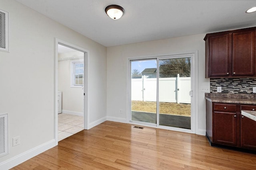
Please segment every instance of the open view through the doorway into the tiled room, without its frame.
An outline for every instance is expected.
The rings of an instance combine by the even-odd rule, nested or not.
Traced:
[[[84,53],[58,44],[58,141],[84,129]]]

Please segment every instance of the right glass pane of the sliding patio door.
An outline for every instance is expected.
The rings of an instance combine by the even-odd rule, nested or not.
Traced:
[[[191,129],[191,58],[159,60],[159,125]]]

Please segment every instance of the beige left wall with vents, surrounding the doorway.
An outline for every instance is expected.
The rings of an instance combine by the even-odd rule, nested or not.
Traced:
[[[8,113],[9,141],[1,164],[54,139],[55,38],[90,51],[89,121],[106,117],[106,47],[14,0],[1,0],[0,8],[9,12],[10,32],[10,52],[0,51],[0,114]],[[20,145],[12,147],[17,136]]]

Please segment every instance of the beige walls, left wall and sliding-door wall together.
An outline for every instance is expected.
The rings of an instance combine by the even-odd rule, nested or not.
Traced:
[[[0,4],[9,12],[10,27],[10,52],[0,52],[0,114],[8,113],[9,154],[0,157],[0,164],[54,139],[54,38],[90,51],[87,95],[92,125],[106,116],[126,120],[128,58],[198,51],[196,133],[205,132],[205,100],[199,90],[209,86],[204,78],[205,34],[106,48],[14,0]],[[12,147],[16,136],[21,143]]]

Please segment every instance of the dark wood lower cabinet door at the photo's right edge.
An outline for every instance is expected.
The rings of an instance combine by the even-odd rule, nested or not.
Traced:
[[[241,115],[242,116],[242,115]],[[241,147],[256,149],[256,121],[248,117],[241,117]]]

